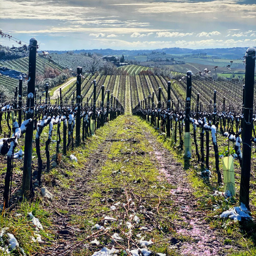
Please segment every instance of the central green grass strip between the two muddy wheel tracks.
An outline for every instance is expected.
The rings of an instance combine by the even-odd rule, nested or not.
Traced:
[[[131,122],[133,122],[133,125],[130,124]],[[124,130],[124,127],[128,127],[128,129]],[[102,245],[109,244],[111,234],[118,229],[120,230],[120,236],[124,239],[122,242],[119,241],[119,243],[127,248],[127,239],[124,233],[129,230],[126,227],[126,222],[129,221],[134,224],[132,238],[135,241],[137,239],[136,234],[141,232],[139,227],[148,226],[149,224],[142,211],[139,210],[139,206],[148,207],[150,204],[154,220],[165,231],[160,232],[159,229],[154,228],[153,231],[144,232],[145,240],[152,239],[155,242],[159,242],[149,246],[149,249],[154,252],[167,253],[167,255],[178,255],[175,250],[169,249],[166,246],[168,237],[176,236],[172,228],[172,221],[169,220],[177,217],[175,212],[168,211],[167,207],[167,205],[172,203],[172,200],[168,198],[168,191],[173,186],[165,181],[163,175],[159,174],[155,166],[155,159],[150,154],[153,148],[144,134],[141,133],[143,130],[147,131],[147,127],[138,118],[120,116],[117,120],[96,131],[97,143],[98,141],[102,142],[106,136],[118,139],[118,141],[112,142],[109,145],[109,149],[102,148],[102,154],[107,154],[107,158],[104,165],[96,170],[96,178],[87,184],[90,187],[87,194],[89,206],[84,207],[85,214],[83,216],[73,216],[71,223],[84,230],[80,237],[80,240],[83,240],[92,232],[92,227],[99,223],[102,218],[104,219],[105,215],[122,220],[122,223],[112,222],[107,224],[106,226],[110,228],[108,233],[97,238],[97,240]],[[109,136],[110,133],[112,134],[111,136]],[[129,141],[131,138],[137,142]],[[139,152],[142,154],[138,154]],[[80,160],[78,160],[78,164],[80,163]],[[161,200],[164,200],[164,206],[159,206],[161,215],[155,210],[159,203],[159,197]],[[105,201],[102,201],[102,198]],[[110,198],[114,198],[115,202],[108,202]],[[130,198],[132,201],[129,203],[127,200]],[[146,199],[145,202],[142,200],[143,198]],[[116,202],[120,202],[120,206],[116,206],[116,210],[110,210],[110,207]],[[127,206],[122,207],[123,203],[131,204],[132,202],[134,202],[134,206],[130,206],[130,208]],[[133,214],[134,210],[132,211],[132,209],[136,211],[136,215],[140,219],[139,224],[134,223],[131,217],[129,217]],[[186,238],[184,237],[184,239]],[[75,255],[79,255],[79,253],[88,255],[87,250],[80,250],[76,253]]]

